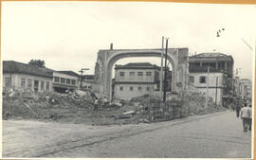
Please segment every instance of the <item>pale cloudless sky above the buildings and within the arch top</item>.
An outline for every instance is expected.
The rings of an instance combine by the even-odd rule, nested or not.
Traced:
[[[252,80],[256,37],[255,5],[163,2],[2,2],[2,60],[40,59],[54,70],[89,68],[100,49],[188,47],[190,55],[231,55],[241,79]],[[216,32],[222,30],[220,37]],[[252,48],[253,50],[251,50]],[[122,59],[152,62],[159,58]]]

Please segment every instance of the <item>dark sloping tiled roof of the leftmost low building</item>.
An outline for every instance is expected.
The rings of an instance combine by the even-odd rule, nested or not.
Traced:
[[[52,72],[46,68],[37,68],[27,63],[3,61],[3,73],[20,73],[32,76],[52,78]]]

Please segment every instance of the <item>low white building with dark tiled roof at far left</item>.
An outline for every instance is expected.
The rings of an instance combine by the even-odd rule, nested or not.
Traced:
[[[52,73],[27,63],[3,61],[3,91],[52,91]]]

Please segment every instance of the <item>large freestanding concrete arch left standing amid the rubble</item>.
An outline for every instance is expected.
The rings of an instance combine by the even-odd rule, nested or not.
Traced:
[[[188,49],[187,49],[188,52]],[[107,98],[112,98],[112,68],[116,62],[118,62],[120,59],[124,58],[132,58],[132,57],[161,57],[162,50],[161,49],[123,49],[123,50],[100,50],[98,53],[98,61],[97,63],[101,63],[103,68],[103,74],[101,74],[102,71],[95,68],[95,74],[99,75],[99,84],[100,88],[103,88],[100,91],[103,96],[106,96]],[[165,55],[165,54],[164,54]],[[177,78],[177,68],[179,68],[181,65],[179,64],[180,56],[178,54],[178,49],[168,49],[167,53],[168,61],[171,62],[173,67],[173,76],[172,76],[172,89],[173,91],[176,90],[176,82],[178,82]],[[183,69],[184,71],[185,69]],[[101,76],[100,76],[101,75]],[[186,75],[186,74],[182,74]],[[103,77],[102,77],[103,76]],[[183,80],[183,79],[182,79]],[[184,82],[185,84],[185,82]]]

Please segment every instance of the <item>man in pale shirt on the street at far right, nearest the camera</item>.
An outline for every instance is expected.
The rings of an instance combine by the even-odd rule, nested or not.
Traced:
[[[244,133],[247,132],[247,129],[250,131],[249,123],[251,119],[251,108],[245,103],[244,108],[241,110],[241,118],[243,120]]]

